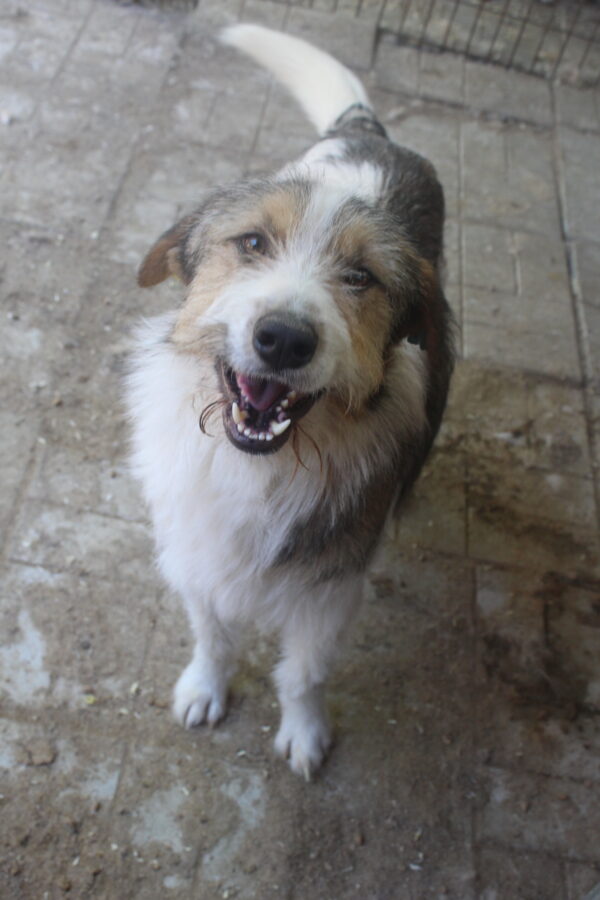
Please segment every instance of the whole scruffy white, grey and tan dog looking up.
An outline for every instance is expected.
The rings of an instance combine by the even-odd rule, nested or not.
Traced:
[[[309,778],[330,744],[336,645],[446,402],[444,199],[330,56],[256,25],[223,40],[270,69],[322,137],[271,177],[209,193],[143,261],[142,287],[175,275],[186,296],[138,335],[133,459],[195,638],[177,719],[221,719],[239,630],[274,630],[275,748]]]

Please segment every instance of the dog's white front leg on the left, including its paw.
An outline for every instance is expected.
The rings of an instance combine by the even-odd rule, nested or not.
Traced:
[[[186,601],[196,643],[192,661],[175,685],[173,712],[185,728],[216,725],[226,711],[237,634],[204,603],[189,598]]]

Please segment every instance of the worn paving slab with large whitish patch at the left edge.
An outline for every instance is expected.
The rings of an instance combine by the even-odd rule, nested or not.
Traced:
[[[50,572],[11,565],[3,572],[5,714],[26,706],[117,716],[139,681],[156,590],[129,582],[115,604],[115,586],[79,569]],[[132,646],[128,623],[146,613]],[[102,646],[103,635],[112,634]],[[16,635],[18,634],[18,639]],[[92,709],[92,706],[94,709]]]

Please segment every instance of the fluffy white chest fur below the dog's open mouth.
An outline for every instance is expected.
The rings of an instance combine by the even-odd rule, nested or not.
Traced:
[[[201,595],[224,621],[277,627],[303,585],[297,573],[292,579],[272,570],[272,562],[282,537],[321,493],[318,466],[294,473],[287,455],[240,453],[222,434],[219,416],[214,434],[202,434],[203,370],[169,345],[172,325],[167,315],[140,330],[128,396],[132,461],[152,513],[161,571],[184,597]]]

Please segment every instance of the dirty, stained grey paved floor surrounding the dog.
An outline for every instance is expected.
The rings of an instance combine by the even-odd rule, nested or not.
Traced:
[[[313,138],[216,46],[240,14],[354,65],[435,163],[461,323],[445,425],[331,681],[336,746],[310,785],[272,754],[264,641],[219,729],[171,719],[190,648],[119,400],[134,323],[179,296],[136,288],[149,244],[207,186]],[[368,15],[268,0],[4,0],[3,898],[582,900],[600,883],[598,91],[373,38]]]

